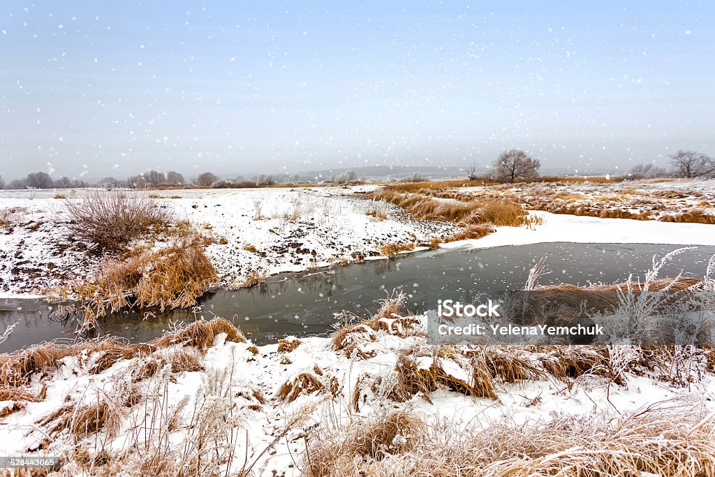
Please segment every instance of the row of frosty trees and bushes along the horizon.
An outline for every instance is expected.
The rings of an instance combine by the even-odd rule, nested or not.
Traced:
[[[696,151],[679,150],[669,156],[671,158],[671,169],[659,167],[655,164],[636,164],[628,170],[623,177],[625,180],[654,179],[657,177],[686,177],[686,178],[711,178],[715,177],[715,159],[707,154]],[[493,169],[488,174],[478,174],[478,164],[473,163],[466,168],[468,180],[496,180],[498,182],[518,182],[521,180],[531,180],[538,177],[538,169],[541,167],[539,159],[526,154],[521,149],[511,149],[499,154],[493,163]],[[293,183],[298,182],[299,177],[294,174],[288,177]],[[410,174],[403,179],[404,182],[425,181],[419,173]],[[348,170],[342,174],[334,175],[325,182],[335,184],[355,184],[359,183],[358,174],[353,170]],[[184,175],[176,171],[159,172],[149,170],[143,174],[127,177],[126,180],[114,177],[104,177],[104,179],[94,184],[79,179],[69,179],[68,177],[58,177],[53,179],[47,172],[32,172],[24,179],[13,180],[5,184],[0,176],[0,189],[72,189],[82,187],[104,187],[104,188],[132,188],[145,189],[150,187],[179,187],[194,185],[197,187],[215,188],[240,188],[240,187],[266,187],[277,184],[277,180],[272,175],[260,174],[252,180],[225,180],[212,172],[203,172],[193,181],[187,182]]]

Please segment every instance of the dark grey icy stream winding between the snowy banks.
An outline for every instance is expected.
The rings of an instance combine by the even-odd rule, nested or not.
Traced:
[[[158,313],[144,320],[141,313],[117,313],[101,320],[98,333],[147,341],[164,333],[172,320],[194,321],[214,315],[232,320],[257,344],[286,335],[321,335],[332,330],[335,313],[348,310],[367,317],[375,312],[375,300],[393,289],[410,297],[408,308],[421,313],[436,308],[437,300],[468,302],[478,292],[518,290],[528,271],[541,257],[551,273],[542,285],[625,280],[633,272],[644,275],[654,255],[676,250],[675,245],[551,243],[475,250],[469,248],[417,252],[397,260],[372,260],[305,272],[277,275],[264,285],[247,290],[206,295],[199,308]],[[697,247],[674,257],[661,276],[683,271],[702,277],[715,247]],[[0,353],[43,340],[72,341],[76,317],[50,318],[51,310],[39,300],[0,300],[2,329],[18,323]]]

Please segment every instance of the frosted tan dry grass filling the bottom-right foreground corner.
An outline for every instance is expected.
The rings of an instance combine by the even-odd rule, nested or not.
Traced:
[[[673,419],[674,413],[679,418]],[[373,436],[369,426],[323,426],[310,438],[305,475],[322,476],[641,476],[715,475],[714,417],[698,410],[649,409],[606,420],[598,415],[556,415],[523,424],[411,425],[393,436],[404,448],[377,455],[347,445]],[[393,426],[384,425],[386,431]],[[405,440],[399,438],[408,436]],[[389,438],[390,433],[385,433]],[[398,437],[398,438],[395,438]],[[386,452],[390,449],[390,452]]]

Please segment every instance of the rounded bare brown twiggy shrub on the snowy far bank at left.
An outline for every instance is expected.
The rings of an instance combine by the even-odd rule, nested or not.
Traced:
[[[82,200],[66,200],[65,205],[72,236],[102,250],[119,250],[172,218],[156,202],[136,193],[93,191]]]

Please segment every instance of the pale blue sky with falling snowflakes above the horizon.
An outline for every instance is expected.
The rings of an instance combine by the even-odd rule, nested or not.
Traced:
[[[715,3],[6,1],[0,175],[715,155]]]

